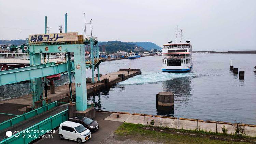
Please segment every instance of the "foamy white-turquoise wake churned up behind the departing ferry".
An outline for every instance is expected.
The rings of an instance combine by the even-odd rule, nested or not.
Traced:
[[[196,73],[168,73],[168,72],[142,72],[141,75],[134,76],[118,84],[130,85],[130,84],[150,84],[158,83],[161,81],[171,80],[173,78],[181,77],[198,77]]]

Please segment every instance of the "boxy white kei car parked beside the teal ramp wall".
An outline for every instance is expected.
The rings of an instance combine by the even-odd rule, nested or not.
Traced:
[[[91,138],[91,132],[83,125],[72,121],[65,121],[59,126],[59,138],[69,139],[82,143]]]

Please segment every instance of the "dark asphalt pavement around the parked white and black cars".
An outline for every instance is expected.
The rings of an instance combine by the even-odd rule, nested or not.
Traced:
[[[123,123],[119,121],[110,121],[104,120],[106,117],[110,116],[111,113],[102,113],[95,112],[95,118],[99,124],[99,130],[91,133],[91,138],[87,140],[86,144],[95,144],[95,143],[104,143],[108,138],[111,137],[113,132]],[[37,144],[69,144],[69,143],[77,143],[76,141],[71,140],[60,140],[58,136],[58,130],[55,133],[52,133],[53,138],[43,138],[39,141],[35,142]]]

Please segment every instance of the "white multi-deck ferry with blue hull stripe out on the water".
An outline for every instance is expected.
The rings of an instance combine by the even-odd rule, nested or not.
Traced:
[[[182,30],[177,28],[176,43],[170,41],[163,45],[163,72],[188,72],[192,69],[192,45],[190,41],[183,42],[182,39]]]

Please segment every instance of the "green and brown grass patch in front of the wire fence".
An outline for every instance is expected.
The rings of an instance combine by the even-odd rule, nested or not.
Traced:
[[[162,143],[205,143],[205,144],[243,144],[247,142],[241,142],[237,140],[229,139],[230,136],[226,136],[226,139],[215,137],[213,135],[207,134],[204,135],[205,132],[199,132],[198,134],[188,135],[188,134],[179,134],[177,132],[187,132],[189,130],[176,130],[176,129],[166,129],[166,128],[157,128],[154,129],[143,129],[144,125],[141,124],[131,124],[131,123],[123,123],[118,127],[115,131],[117,135],[116,139],[125,140],[132,139],[137,142],[150,140],[154,142],[162,142]],[[168,131],[170,130],[170,131]],[[248,142],[251,143],[251,142]]]

